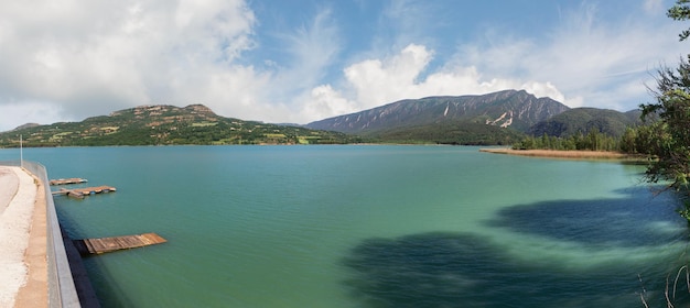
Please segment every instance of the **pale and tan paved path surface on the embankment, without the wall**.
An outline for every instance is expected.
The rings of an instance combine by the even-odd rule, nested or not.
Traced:
[[[47,307],[45,196],[36,183],[0,166],[0,307]]]

